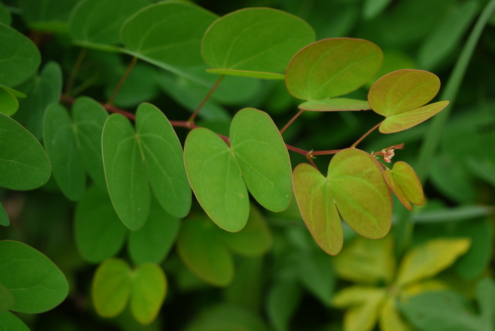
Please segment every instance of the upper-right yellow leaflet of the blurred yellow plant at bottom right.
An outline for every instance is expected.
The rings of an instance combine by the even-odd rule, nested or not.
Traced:
[[[434,239],[407,252],[397,273],[397,286],[433,277],[470,248],[468,239]]]

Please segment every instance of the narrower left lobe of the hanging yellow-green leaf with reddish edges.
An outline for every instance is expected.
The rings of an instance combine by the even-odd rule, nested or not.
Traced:
[[[303,220],[316,243],[330,255],[342,250],[344,235],[327,178],[308,163],[293,172],[294,194]]]

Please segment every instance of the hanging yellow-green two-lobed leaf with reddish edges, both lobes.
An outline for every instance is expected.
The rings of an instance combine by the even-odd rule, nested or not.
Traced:
[[[390,230],[392,200],[383,170],[368,153],[344,149],[324,177],[307,163],[293,171],[294,192],[316,243],[330,255],[343,244],[341,217],[361,236],[382,238]]]

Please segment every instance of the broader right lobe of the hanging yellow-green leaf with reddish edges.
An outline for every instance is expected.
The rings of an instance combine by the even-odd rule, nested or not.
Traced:
[[[361,236],[378,239],[392,225],[392,197],[383,168],[368,153],[344,149],[328,165],[328,182],[340,216]]]

